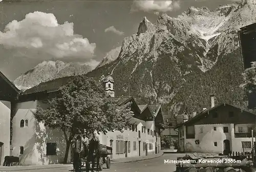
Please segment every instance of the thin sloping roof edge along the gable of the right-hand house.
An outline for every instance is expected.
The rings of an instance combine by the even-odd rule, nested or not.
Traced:
[[[225,106],[225,105],[228,105],[228,106],[232,106],[232,107],[234,107],[234,108],[242,109],[242,110],[245,111],[245,112],[248,112],[248,113],[251,113],[251,114],[253,114],[253,115],[256,115],[255,113],[249,112],[249,111],[247,111],[247,110],[245,110],[245,109],[243,109],[243,108],[241,108],[241,107],[238,107],[238,106],[235,106],[235,105],[230,105],[230,104],[227,104],[227,103],[221,103],[221,104],[219,104],[219,105],[217,105],[217,106],[215,106],[215,107],[212,107],[212,108],[210,108],[210,109],[206,109],[206,110],[200,112],[199,114],[197,114],[197,115],[194,116],[193,118],[190,118],[190,119],[188,119],[187,121],[183,122],[182,124],[179,124],[179,125],[176,126],[174,129],[177,129],[177,128],[183,126],[183,125],[191,124],[191,123],[193,123],[194,121],[197,121],[197,119],[199,119],[199,118],[202,117],[203,115],[205,115],[205,114],[208,115],[208,112],[209,112],[209,111],[214,110],[214,109],[217,109],[217,108],[219,108],[220,106],[223,106],[223,105],[224,105],[224,106]]]

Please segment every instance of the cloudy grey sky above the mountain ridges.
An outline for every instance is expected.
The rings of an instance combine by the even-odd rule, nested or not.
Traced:
[[[176,17],[190,6],[216,9],[226,0],[88,1],[0,0],[0,71],[11,81],[47,60],[96,66],[124,37],[165,12]]]

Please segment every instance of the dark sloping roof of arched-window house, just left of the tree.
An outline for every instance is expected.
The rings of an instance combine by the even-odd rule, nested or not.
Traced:
[[[35,93],[35,92],[58,90],[61,86],[67,84],[73,78],[74,78],[74,76],[62,77],[62,78],[57,78],[57,79],[54,79],[51,81],[42,82],[37,86],[27,89],[26,91],[23,92],[23,94],[31,94],[31,93]]]

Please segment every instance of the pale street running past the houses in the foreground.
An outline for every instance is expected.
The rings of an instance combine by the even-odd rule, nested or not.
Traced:
[[[105,164],[103,165],[104,171],[118,171],[118,172],[127,172],[127,171],[133,171],[133,172],[150,172],[150,171],[169,171],[173,172],[176,170],[175,164],[164,164],[164,160],[176,160],[178,154],[164,154],[163,156],[155,159],[150,160],[144,160],[144,161],[138,161],[138,162],[130,162],[130,163],[119,163],[119,164],[112,164],[110,166],[110,169],[106,169]],[[33,169],[33,170],[26,170],[27,172],[59,172],[59,171],[71,171],[72,167],[60,167],[60,168],[49,168],[49,169]],[[16,170],[20,171],[20,170]]]

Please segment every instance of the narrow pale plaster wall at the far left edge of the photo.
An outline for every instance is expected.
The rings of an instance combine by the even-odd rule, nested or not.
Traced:
[[[4,143],[0,150],[0,165],[3,165],[5,156],[10,155],[10,114],[11,103],[0,101],[0,142]]]

